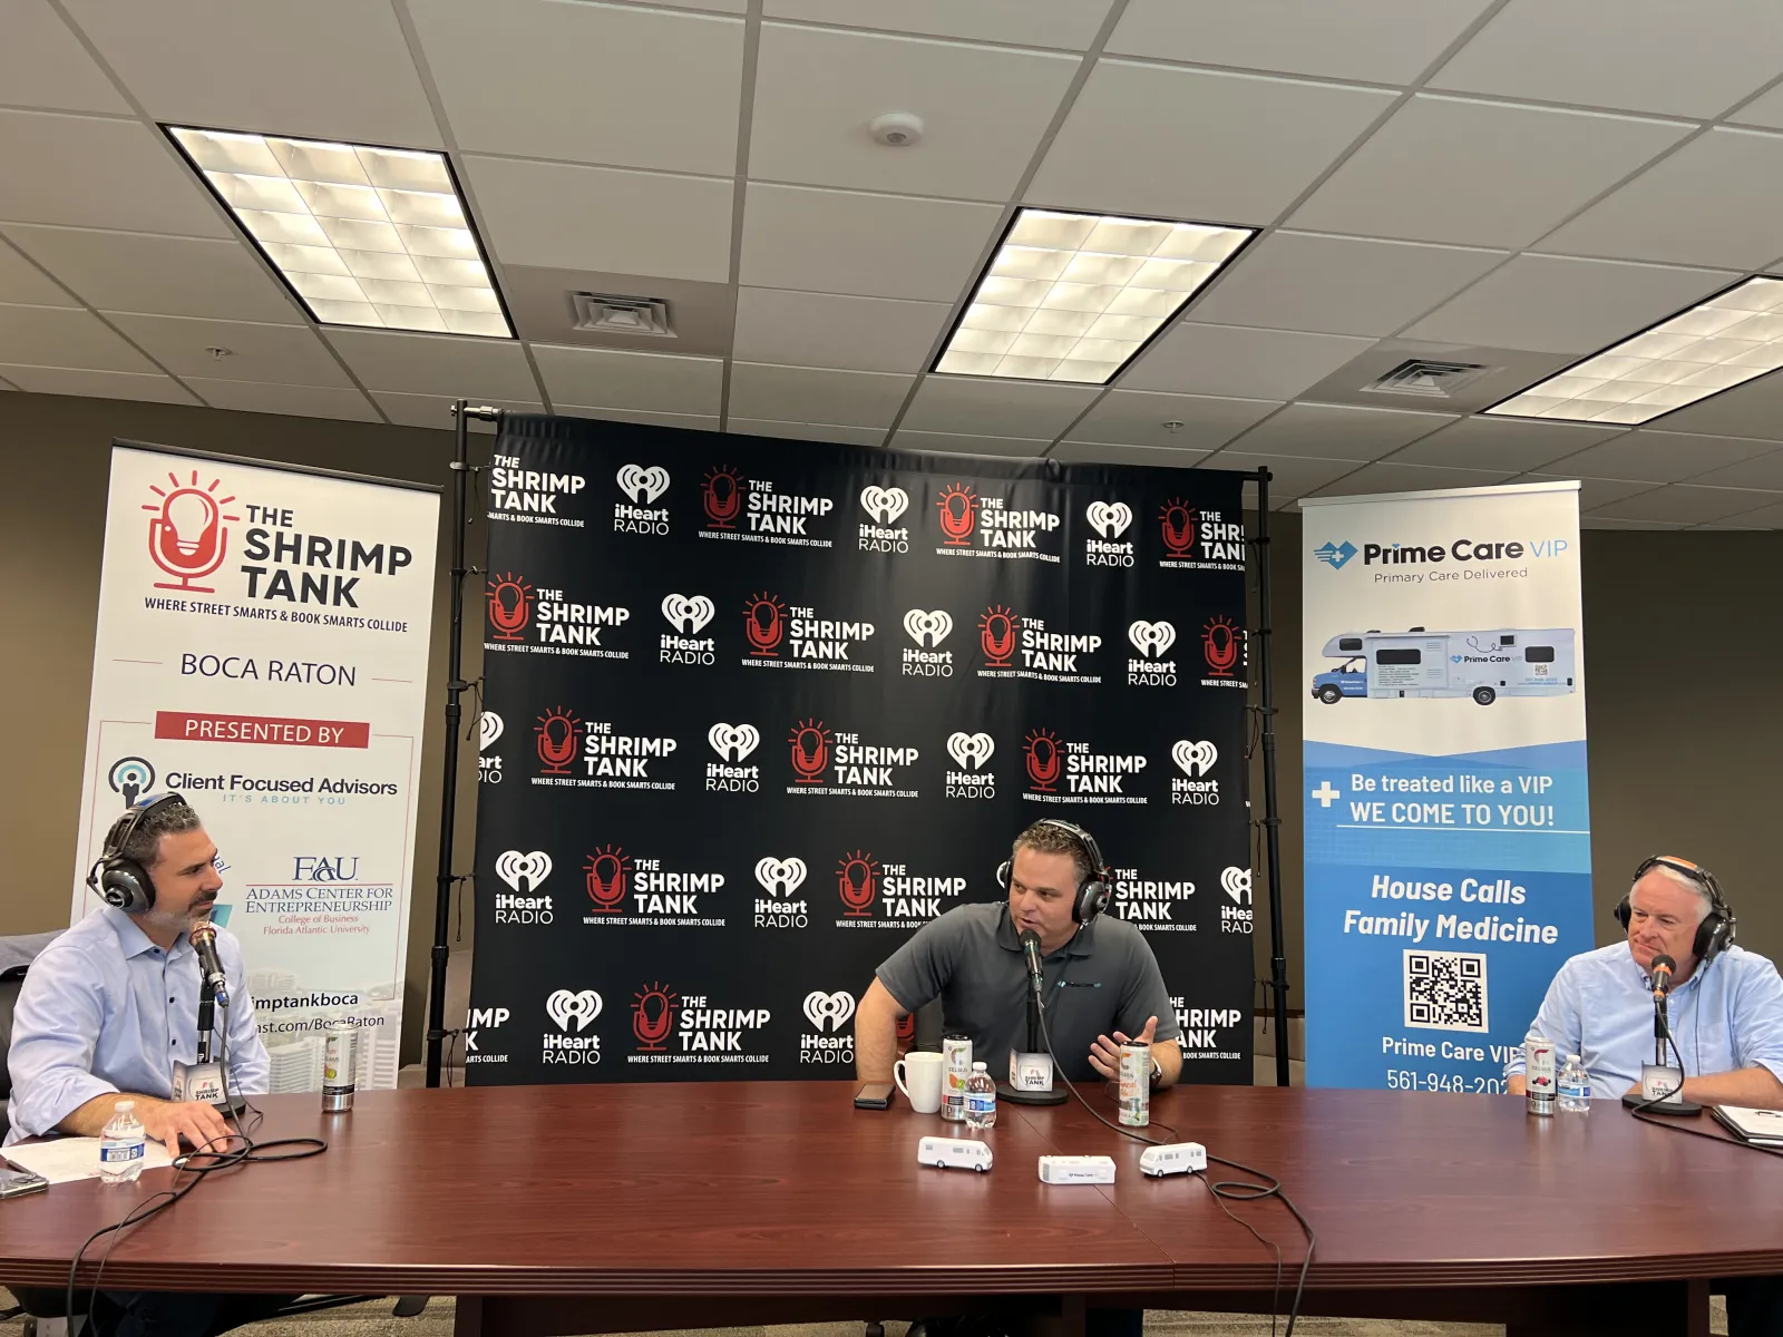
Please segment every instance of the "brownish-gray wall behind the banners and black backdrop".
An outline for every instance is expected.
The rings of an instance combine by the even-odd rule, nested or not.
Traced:
[[[11,884],[0,893],[0,934],[62,927],[70,850],[80,802],[80,752],[93,676],[100,537],[112,437],[264,460],[446,483],[451,433],[109,399],[0,394],[0,692],[9,701],[9,756],[0,768],[0,841]],[[489,455],[472,437],[472,456]],[[474,512],[474,508],[472,508]],[[1287,959],[1300,1009],[1300,519],[1275,515],[1275,668],[1282,797],[1282,893]],[[423,740],[421,825],[440,793],[446,683],[448,535],[440,535],[428,727]],[[472,553],[481,526],[471,531]],[[1715,870],[1740,915],[1740,941],[1783,954],[1783,897],[1772,890],[1783,751],[1783,533],[1610,533],[1583,537],[1587,717],[1590,729],[1592,859],[1598,941],[1626,875],[1664,847]],[[472,556],[472,563],[476,558]],[[1252,578],[1255,586],[1255,578]],[[481,620],[471,606],[467,672]],[[471,710],[467,699],[465,708]],[[469,759],[467,759],[469,761]],[[471,866],[474,765],[458,802],[460,870]],[[1255,816],[1262,816],[1253,763]],[[408,932],[405,1061],[419,1057],[433,934],[437,833],[415,852]],[[1264,882],[1257,879],[1255,957],[1268,975]],[[465,913],[465,938],[471,915]],[[1261,997],[1259,997],[1261,1002]]]

